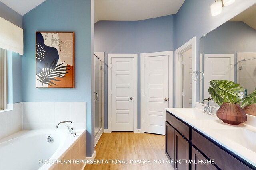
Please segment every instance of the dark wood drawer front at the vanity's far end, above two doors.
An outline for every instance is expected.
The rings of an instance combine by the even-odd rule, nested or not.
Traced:
[[[189,140],[189,126],[166,111],[166,121]]]

